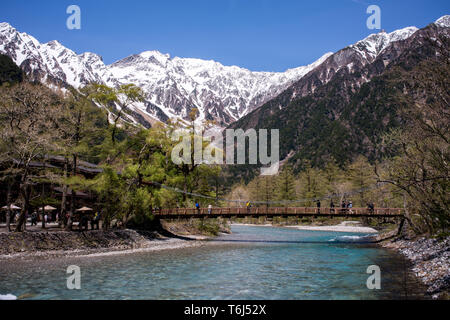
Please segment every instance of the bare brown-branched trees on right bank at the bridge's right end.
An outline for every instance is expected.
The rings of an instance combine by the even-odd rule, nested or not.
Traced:
[[[450,63],[445,50],[437,58],[398,80],[413,99],[401,110],[403,128],[385,136],[384,147],[397,156],[377,170],[381,181],[401,190],[406,210],[418,214],[430,234],[450,224]]]

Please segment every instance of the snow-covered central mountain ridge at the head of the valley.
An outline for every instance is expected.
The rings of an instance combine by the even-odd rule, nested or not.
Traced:
[[[192,107],[200,119],[230,123],[286,89],[292,82],[322,63],[285,73],[252,72],[215,61],[171,58],[157,51],[143,52],[108,66],[113,75],[108,85],[134,83],[147,99],[166,115],[187,117]]]

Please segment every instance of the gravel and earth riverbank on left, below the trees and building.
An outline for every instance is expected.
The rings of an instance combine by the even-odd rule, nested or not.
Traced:
[[[201,245],[196,240],[204,238],[135,230],[0,233],[0,261],[177,249]]]

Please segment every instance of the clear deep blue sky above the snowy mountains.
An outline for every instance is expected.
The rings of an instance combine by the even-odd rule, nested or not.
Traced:
[[[81,8],[81,30],[66,28],[71,4]],[[284,71],[377,32],[366,27],[371,4],[388,32],[450,14],[448,0],[11,0],[0,4],[0,22],[40,42],[98,53],[107,64],[158,50]]]

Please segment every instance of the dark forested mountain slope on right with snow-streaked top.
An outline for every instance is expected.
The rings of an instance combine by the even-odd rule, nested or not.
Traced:
[[[449,73],[444,83],[433,74],[450,72],[449,27],[445,16],[421,30],[372,35],[330,56],[230,128],[279,129],[281,159],[296,168],[306,159],[315,166],[331,158],[343,165],[359,154],[380,159],[381,137],[402,125],[399,111],[433,98],[416,76],[429,74],[430,88],[448,91]]]

